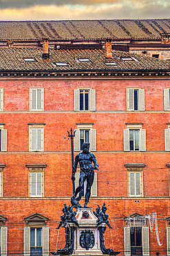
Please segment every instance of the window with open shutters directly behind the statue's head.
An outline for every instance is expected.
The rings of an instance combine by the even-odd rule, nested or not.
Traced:
[[[96,151],[96,129],[77,129],[74,137],[74,151],[82,150],[83,143],[90,143],[90,151]]]

